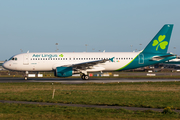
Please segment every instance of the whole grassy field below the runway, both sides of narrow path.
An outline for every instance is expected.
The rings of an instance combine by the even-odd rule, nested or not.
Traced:
[[[52,91],[56,89],[55,98]],[[0,103],[0,120],[4,119],[179,119],[180,82],[147,83],[0,83],[0,100],[38,101],[97,105],[120,105],[165,108],[164,112],[125,109],[78,108]]]

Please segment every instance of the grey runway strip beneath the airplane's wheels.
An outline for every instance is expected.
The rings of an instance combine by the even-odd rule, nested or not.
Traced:
[[[83,84],[83,83],[120,83],[120,82],[176,82],[180,79],[124,79],[124,78],[90,78],[82,80],[80,78],[0,78],[0,83],[15,82],[56,82],[62,84]]]

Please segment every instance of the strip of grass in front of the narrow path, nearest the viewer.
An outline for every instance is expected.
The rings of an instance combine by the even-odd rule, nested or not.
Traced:
[[[0,119],[34,119],[34,120],[172,120],[178,119],[178,113],[161,113],[151,110],[129,111],[125,109],[98,109],[77,108],[60,106],[41,106],[25,104],[3,104],[0,103]]]

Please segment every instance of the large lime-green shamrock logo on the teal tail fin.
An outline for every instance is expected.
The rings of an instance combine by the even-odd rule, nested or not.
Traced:
[[[156,51],[158,50],[159,46],[161,49],[165,49],[168,45],[167,41],[163,41],[166,38],[166,35],[160,35],[158,40],[154,40],[152,46],[157,46]]]

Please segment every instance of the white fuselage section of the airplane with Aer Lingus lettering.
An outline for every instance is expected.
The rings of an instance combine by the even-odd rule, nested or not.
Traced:
[[[113,62],[107,61],[86,70],[87,72],[112,71],[124,67],[138,54],[139,52],[22,53],[13,56],[3,66],[16,71],[53,71],[60,66],[71,66],[114,57]]]

